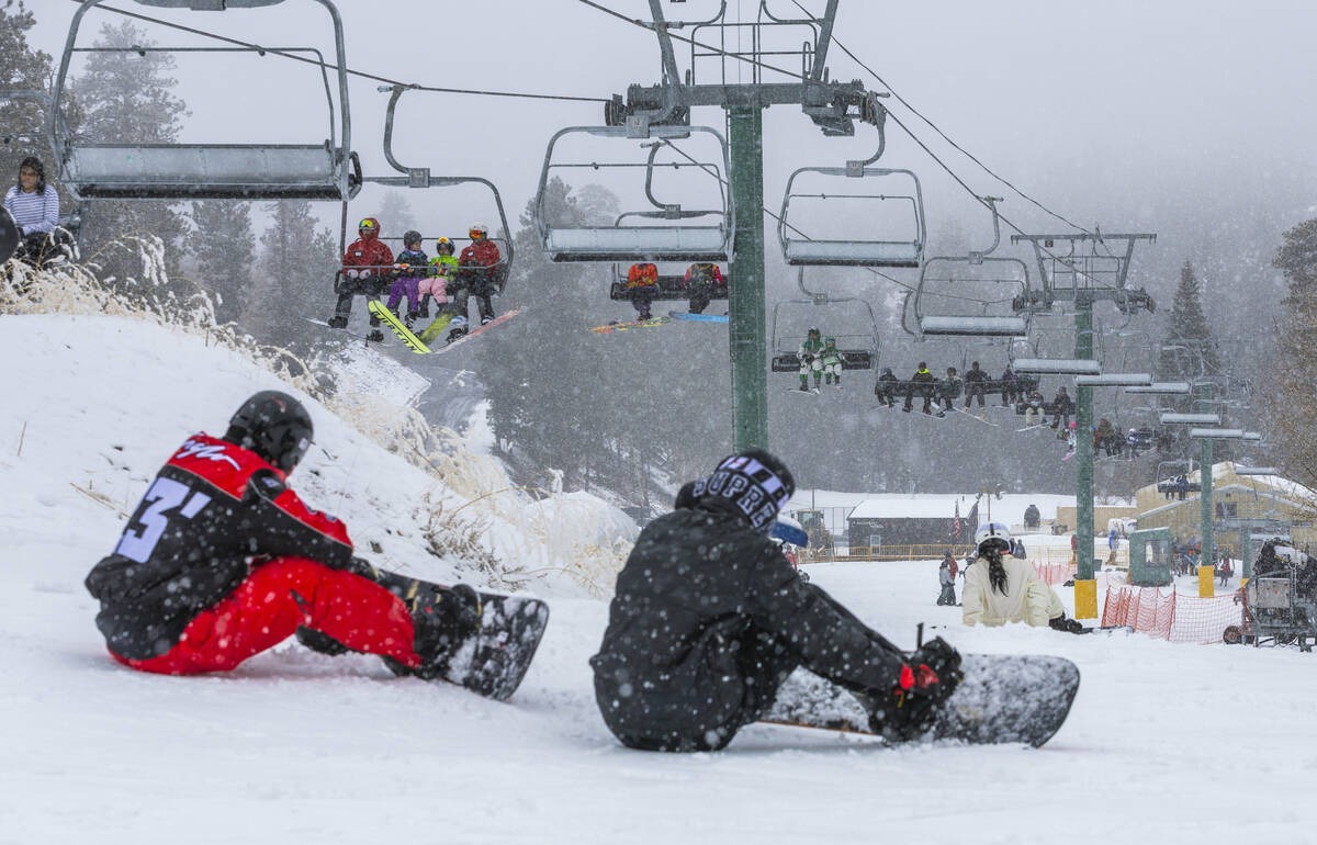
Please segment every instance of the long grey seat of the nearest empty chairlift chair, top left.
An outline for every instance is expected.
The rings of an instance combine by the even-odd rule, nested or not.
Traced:
[[[96,199],[340,200],[335,159],[328,145],[91,143],[68,149],[63,178]]]

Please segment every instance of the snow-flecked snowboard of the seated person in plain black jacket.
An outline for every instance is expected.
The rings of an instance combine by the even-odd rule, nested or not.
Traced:
[[[914,742],[1033,745],[1052,738],[1079,691],[1079,667],[1042,654],[965,654],[964,680],[932,728]],[[873,734],[853,695],[803,669],[778,691],[763,721]]]

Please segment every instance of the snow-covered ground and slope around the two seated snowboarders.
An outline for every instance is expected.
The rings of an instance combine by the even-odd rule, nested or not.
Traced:
[[[1317,840],[1317,655],[965,629],[934,605],[931,561],[810,574],[903,645],[923,621],[964,650],[1073,659],[1083,686],[1046,748],[889,750],[755,725],[718,754],[626,750],[586,663],[607,605],[564,561],[623,530],[590,498],[508,492],[462,512],[495,554],[535,561],[528,590],[553,611],[510,703],[292,642],[223,677],[125,670],[83,576],[176,444],[220,433],[275,380],[198,338],[99,317],[0,317],[0,842]],[[427,495],[448,512],[474,496],[312,412],[303,495],[386,565],[481,580],[420,538]]]

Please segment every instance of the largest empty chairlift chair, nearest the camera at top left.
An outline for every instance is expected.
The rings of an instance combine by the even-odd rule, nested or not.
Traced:
[[[257,8],[283,0],[137,0],[171,9],[224,11]],[[116,143],[88,142],[68,132],[62,120],[68,66],[78,47],[78,30],[88,11],[103,0],[84,0],[74,12],[53,87],[47,133],[59,180],[79,199],[134,200],[341,200],[361,188],[361,163],[352,151],[348,105],[348,63],[342,21],[329,0],[313,0],[331,17],[335,34],[337,103],[329,84],[328,62],[313,47],[146,47],[161,51],[312,53],[320,64],[328,104],[328,138],[315,143]],[[122,47],[141,51],[142,47]],[[337,125],[336,125],[337,116]]]

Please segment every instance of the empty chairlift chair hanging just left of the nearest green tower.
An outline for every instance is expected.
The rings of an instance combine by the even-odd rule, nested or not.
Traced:
[[[702,133],[718,142],[722,161],[680,161],[658,162],[657,153],[672,146],[674,140],[690,138]],[[593,136],[620,142],[624,146],[640,143],[649,151],[645,161],[624,162],[558,162],[554,149],[569,136]],[[678,151],[678,154],[681,154]],[[686,158],[682,154],[684,158]],[[685,208],[681,204],[665,203],[653,193],[653,176],[668,168],[694,168],[703,171],[709,180],[716,205],[711,208]],[[608,168],[643,168],[645,172],[645,196],[651,208],[624,211],[611,225],[565,225],[548,218],[545,199],[549,178],[564,168],[589,168],[602,171]],[[678,261],[678,262],[726,262],[731,258],[735,218],[731,207],[727,141],[722,133],[709,126],[651,125],[641,122],[627,126],[568,126],[560,129],[549,140],[544,153],[544,167],[540,171],[540,186],[535,199],[535,224],[544,245],[544,253],[552,262],[637,262],[637,261]],[[576,187],[576,186],[574,186]],[[651,222],[658,221],[658,222]]]

